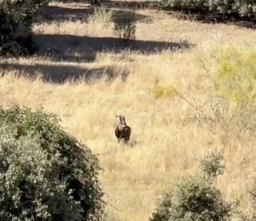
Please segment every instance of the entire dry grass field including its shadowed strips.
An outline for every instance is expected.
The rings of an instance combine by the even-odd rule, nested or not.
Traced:
[[[185,100],[154,99],[149,92],[169,84],[191,103],[205,102],[215,91],[202,77],[199,59],[208,59],[213,70],[209,55],[217,44],[254,44],[256,31],[111,7],[112,14],[93,14],[88,2],[51,3],[43,22],[34,26],[40,53],[1,61],[0,104],[42,106],[58,114],[63,128],[98,155],[113,220],[147,221],[162,191],[196,172],[198,157],[214,148],[224,148],[226,159],[218,187],[226,199],[243,197],[242,207],[248,209],[247,190],[256,176],[255,137],[227,136],[223,142],[221,127],[182,123],[190,108]],[[117,39],[111,22],[113,15],[125,13],[138,17],[131,48]],[[117,144],[114,134],[120,113],[132,129],[127,146]]]

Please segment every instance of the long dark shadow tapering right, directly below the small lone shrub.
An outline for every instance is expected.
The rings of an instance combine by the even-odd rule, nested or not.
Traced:
[[[194,45],[187,42],[158,42],[143,40],[128,40],[114,37],[89,37],[76,35],[58,34],[35,34],[34,36],[39,46],[38,55],[48,55],[53,61],[93,61],[96,53],[111,51],[119,53],[123,50],[139,52],[141,54],[158,53],[166,49],[183,49]],[[76,55],[74,57],[74,55]]]

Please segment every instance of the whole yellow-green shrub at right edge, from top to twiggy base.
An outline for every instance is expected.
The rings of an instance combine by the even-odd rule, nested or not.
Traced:
[[[208,55],[210,56],[208,56]],[[250,44],[221,43],[200,55],[215,91],[217,121],[225,131],[254,133],[256,128],[256,53]],[[206,58],[207,57],[207,58]],[[215,121],[216,121],[215,119]],[[216,122],[217,122],[216,121]]]

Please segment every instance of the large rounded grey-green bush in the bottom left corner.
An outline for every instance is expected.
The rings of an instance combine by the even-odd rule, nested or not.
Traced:
[[[54,115],[0,108],[0,220],[98,220],[99,169]]]

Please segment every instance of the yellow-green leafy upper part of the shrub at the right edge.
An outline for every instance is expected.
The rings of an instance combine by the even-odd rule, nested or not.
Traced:
[[[250,48],[221,45],[213,80],[218,94],[237,104],[254,100],[256,54]]]

